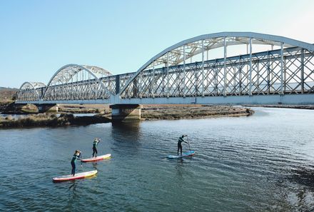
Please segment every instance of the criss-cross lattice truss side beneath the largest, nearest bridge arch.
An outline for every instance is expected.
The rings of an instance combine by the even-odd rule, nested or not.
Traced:
[[[292,47],[283,56],[281,50],[264,51],[148,69],[121,98],[308,94],[313,89],[314,54]]]

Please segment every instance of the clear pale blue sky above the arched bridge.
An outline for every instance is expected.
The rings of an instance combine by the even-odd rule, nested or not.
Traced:
[[[314,1],[0,0],[0,86],[48,83],[66,64],[137,69],[201,34],[254,31],[314,43]]]

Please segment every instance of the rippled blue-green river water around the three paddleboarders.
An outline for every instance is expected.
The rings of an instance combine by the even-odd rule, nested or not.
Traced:
[[[253,109],[240,118],[0,130],[0,211],[313,211],[314,111]],[[196,155],[166,159],[183,133]],[[53,183],[71,172],[74,150],[91,156],[95,137],[113,157],[78,172],[97,176]]]

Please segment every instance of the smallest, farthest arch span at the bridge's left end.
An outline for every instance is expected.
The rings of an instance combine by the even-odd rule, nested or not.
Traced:
[[[46,89],[41,82],[26,81],[21,85],[16,95],[16,101],[39,101]]]

